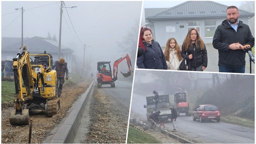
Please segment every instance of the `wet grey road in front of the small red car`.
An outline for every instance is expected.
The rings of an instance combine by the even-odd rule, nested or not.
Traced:
[[[164,124],[172,129],[171,123]],[[224,122],[193,121],[191,116],[181,115],[177,118],[178,132],[189,136],[199,143],[254,143],[254,129]]]

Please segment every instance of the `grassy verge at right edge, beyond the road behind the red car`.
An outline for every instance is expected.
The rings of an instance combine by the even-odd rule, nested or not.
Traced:
[[[232,115],[222,116],[220,118],[221,118],[221,121],[224,121],[226,123],[232,123],[232,124],[237,124],[245,127],[254,128],[254,121],[252,120],[248,120],[245,118],[240,118]]]

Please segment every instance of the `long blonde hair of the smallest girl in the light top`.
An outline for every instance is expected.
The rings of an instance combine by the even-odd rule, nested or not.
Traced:
[[[164,56],[165,56],[165,60],[169,61],[169,58],[170,58],[170,40],[174,40],[175,41],[175,46],[174,46],[174,50],[176,50],[177,52],[177,57],[178,57],[178,61],[180,61],[182,59],[181,57],[181,50],[180,50],[180,47],[178,46],[178,43],[177,43],[177,40],[173,37],[170,37],[167,42],[166,42],[166,45],[165,45],[165,48],[164,48]]]

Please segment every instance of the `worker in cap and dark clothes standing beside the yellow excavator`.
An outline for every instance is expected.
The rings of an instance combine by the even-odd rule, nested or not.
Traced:
[[[65,62],[64,58],[60,58],[59,60],[56,60],[55,63],[53,63],[52,69],[54,67],[57,72],[56,94],[58,95],[58,97],[61,97],[65,73],[66,73],[65,79],[66,80],[68,79],[67,63]]]

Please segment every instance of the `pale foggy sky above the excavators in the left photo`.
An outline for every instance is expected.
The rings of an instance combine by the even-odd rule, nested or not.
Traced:
[[[80,64],[86,44],[85,63],[95,70],[96,61],[111,61],[112,65],[126,53],[131,54],[134,63],[136,47],[131,47],[132,52],[118,43],[125,43],[132,28],[138,32],[141,4],[141,1],[64,1],[61,44],[74,50]],[[22,6],[23,37],[47,37],[50,33],[58,41],[60,1],[2,1],[2,37],[21,37],[21,10],[15,8]],[[71,6],[77,7],[65,8]]]

